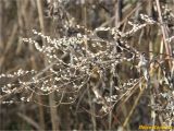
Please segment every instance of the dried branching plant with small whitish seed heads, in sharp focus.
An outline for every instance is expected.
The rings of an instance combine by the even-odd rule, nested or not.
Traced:
[[[109,2],[102,2],[109,5]],[[30,71],[20,69],[14,73],[0,74],[1,104],[35,102],[50,107],[47,103],[39,103],[37,96],[54,93],[53,107],[75,105],[74,111],[84,110],[91,116],[95,130],[96,118],[105,116],[111,119],[109,129],[127,128],[133,112],[140,110],[139,105],[146,105],[147,109],[153,112],[145,124],[154,126],[161,121],[166,126],[173,124],[174,47],[173,29],[167,28],[167,24],[174,21],[174,14],[169,8],[160,9],[161,21],[138,13],[136,22],[123,20],[119,28],[99,26],[92,29],[87,27],[87,20],[85,26],[75,22],[74,14],[70,12],[73,10],[70,4],[80,3],[83,9],[87,10],[87,4],[102,5],[100,2],[47,0],[47,14],[52,17],[57,35],[46,35],[45,29],[38,32],[35,28],[30,31],[35,37],[22,38],[23,45],[33,45],[36,48],[45,61],[45,68]],[[159,48],[147,51],[138,47],[141,45],[134,46],[138,40],[146,40],[140,36],[137,38],[137,35],[144,36],[148,28],[156,29],[157,33],[152,35],[158,39],[158,33],[162,29],[164,39],[161,41],[165,43],[166,53],[164,50],[159,52]],[[154,38],[151,37],[150,40]],[[141,99],[146,96],[147,102],[144,103]],[[127,106],[127,117],[124,116],[123,120],[120,120],[121,124],[116,123],[115,119],[121,117],[119,112],[132,99],[135,103],[133,102],[130,107]]]

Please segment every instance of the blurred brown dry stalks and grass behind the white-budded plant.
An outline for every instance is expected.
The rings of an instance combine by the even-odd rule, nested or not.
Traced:
[[[129,28],[128,21],[140,23],[139,14],[147,14],[154,21],[160,21],[157,7],[158,0],[0,0],[0,73],[12,73],[18,69],[41,70],[45,66],[44,56],[33,45],[24,44],[22,38],[32,37],[32,29],[42,32],[51,37],[73,35],[74,32],[62,32],[63,25],[83,25],[94,31],[96,27],[117,27],[122,32]],[[174,35],[174,17],[167,13],[174,13],[174,0],[159,0],[163,22],[167,26],[167,37]],[[52,3],[51,3],[52,2]],[[52,11],[52,4],[58,2],[58,9]],[[166,9],[171,9],[166,11]],[[64,16],[67,15],[67,20]],[[166,20],[166,21],[165,21]],[[99,34],[102,38],[109,38],[105,34]],[[129,37],[128,45],[151,53],[167,53],[166,46],[163,51],[163,34],[158,25],[146,26]],[[173,41],[171,43],[173,48]],[[150,52],[149,52],[150,51]],[[169,53],[171,55],[171,52]],[[171,70],[172,68],[167,68]],[[129,72],[126,67],[120,67],[121,80],[137,78],[137,72]],[[124,72],[122,72],[124,71]],[[169,90],[167,87],[161,90]],[[16,95],[15,103],[0,105],[0,130],[108,130],[123,126],[134,102],[138,96],[135,92],[126,103],[120,103],[112,111],[112,122],[109,126],[108,116],[96,117],[83,109],[76,110],[78,102],[70,105],[60,105],[58,108],[45,107],[41,104],[52,104],[52,95],[37,96],[36,103],[17,102],[21,95]],[[25,94],[23,94],[25,95]],[[127,129],[138,129],[139,124],[148,124],[151,119],[148,107],[147,94],[136,106]],[[82,104],[83,105],[83,104]],[[88,105],[83,105],[88,108]],[[80,108],[80,107],[78,107]],[[163,123],[162,116],[157,118],[157,124]],[[95,128],[94,128],[95,124]]]

